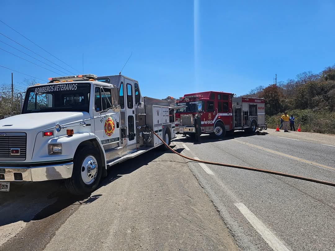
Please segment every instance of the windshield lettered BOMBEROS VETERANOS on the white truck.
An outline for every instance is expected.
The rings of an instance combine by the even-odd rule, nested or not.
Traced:
[[[89,112],[90,84],[60,83],[29,87],[22,113],[54,111]]]

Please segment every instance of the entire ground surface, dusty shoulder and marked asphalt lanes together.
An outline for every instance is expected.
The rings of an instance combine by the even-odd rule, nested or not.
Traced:
[[[335,182],[335,136],[236,132],[178,152]],[[72,197],[59,181],[0,193],[0,250],[335,250],[335,188],[150,151]]]

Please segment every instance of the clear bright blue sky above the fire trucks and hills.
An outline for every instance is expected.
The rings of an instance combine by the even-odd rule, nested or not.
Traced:
[[[2,0],[0,19],[78,71],[2,23],[0,32],[76,74],[83,53],[84,73],[114,75],[132,52],[122,73],[137,79],[145,96],[241,95],[272,84],[276,73],[285,81],[335,63],[334,1],[32,2]],[[58,72],[1,42],[0,48]],[[46,81],[59,76],[2,50],[0,65]],[[10,83],[10,73],[0,67],[0,84]],[[17,85],[24,78],[14,72]]]

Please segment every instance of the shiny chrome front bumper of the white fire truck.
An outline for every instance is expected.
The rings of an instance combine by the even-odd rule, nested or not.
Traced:
[[[0,181],[44,181],[72,176],[73,162],[34,167],[0,166]]]

